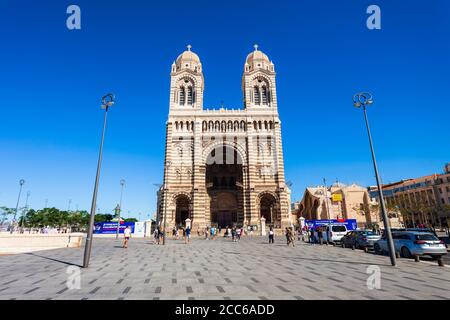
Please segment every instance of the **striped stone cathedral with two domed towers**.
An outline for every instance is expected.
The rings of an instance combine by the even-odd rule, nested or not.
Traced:
[[[292,226],[284,176],[275,66],[255,49],[244,64],[243,106],[205,109],[202,63],[188,46],[172,64],[158,223]]]

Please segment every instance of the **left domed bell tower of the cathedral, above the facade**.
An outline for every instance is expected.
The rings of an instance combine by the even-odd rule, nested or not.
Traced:
[[[204,78],[202,64],[191,46],[172,64],[170,81],[170,113],[203,108]]]

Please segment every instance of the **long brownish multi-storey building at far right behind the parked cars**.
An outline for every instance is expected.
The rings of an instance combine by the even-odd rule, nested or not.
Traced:
[[[450,225],[450,164],[444,173],[405,179],[382,187],[389,209],[397,208],[408,227]],[[371,195],[378,198],[376,187]]]

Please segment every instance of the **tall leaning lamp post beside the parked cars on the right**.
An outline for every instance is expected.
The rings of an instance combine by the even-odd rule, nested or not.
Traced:
[[[388,216],[386,213],[386,205],[384,203],[383,190],[381,188],[380,176],[378,174],[378,166],[377,166],[377,161],[375,158],[375,151],[373,148],[372,135],[370,133],[369,120],[367,118],[366,106],[370,106],[372,104],[373,104],[372,94],[370,94],[368,92],[357,93],[353,96],[353,105],[358,109],[362,107],[363,111],[364,111],[364,120],[366,122],[367,134],[369,136],[369,144],[370,144],[370,150],[372,152],[373,168],[375,170],[375,178],[377,180],[378,195],[380,197],[381,214],[383,217],[384,231],[386,233],[386,239],[387,239],[387,244],[388,244],[388,249],[389,249],[389,256],[391,258],[391,264],[392,264],[392,266],[395,267],[397,264],[397,261],[395,258],[394,242],[392,241],[391,227],[389,225],[389,220],[388,220]]]

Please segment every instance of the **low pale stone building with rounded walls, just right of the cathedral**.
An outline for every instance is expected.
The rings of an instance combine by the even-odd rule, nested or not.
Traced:
[[[302,201],[295,207],[296,218],[356,219],[359,228],[365,228],[371,223],[381,225],[377,204],[370,199],[367,188],[356,184],[335,183],[327,188],[306,188]]]

